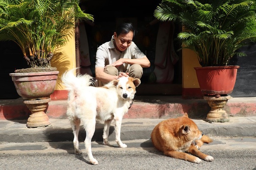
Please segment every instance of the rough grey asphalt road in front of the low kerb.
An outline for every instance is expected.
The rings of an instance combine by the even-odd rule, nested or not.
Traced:
[[[194,164],[169,158],[156,151],[94,151],[98,165],[90,165],[86,154],[28,153],[1,154],[2,170],[254,170],[256,151],[212,150],[205,152],[215,159]]]

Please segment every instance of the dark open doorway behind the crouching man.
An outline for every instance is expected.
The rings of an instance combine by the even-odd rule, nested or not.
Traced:
[[[174,39],[181,27],[154,18],[159,0],[84,0],[81,8],[94,16],[94,22],[80,23],[81,73],[95,76],[94,66],[98,46],[110,41],[115,27],[121,22],[132,22],[137,33],[133,39],[148,57],[151,66],[143,69],[137,95],[181,95],[182,54],[180,43]]]

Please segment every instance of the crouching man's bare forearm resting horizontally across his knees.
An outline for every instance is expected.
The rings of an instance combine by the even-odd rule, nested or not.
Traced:
[[[142,66],[142,67],[150,67],[150,61],[148,60],[146,55],[141,59],[119,59],[118,61],[116,61],[115,63],[110,64],[110,65],[118,67],[118,66],[122,65],[123,63],[131,64],[131,65],[132,64],[140,64],[140,66]]]

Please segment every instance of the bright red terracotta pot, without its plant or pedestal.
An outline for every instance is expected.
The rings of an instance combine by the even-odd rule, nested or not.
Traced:
[[[204,95],[226,95],[232,93],[240,66],[194,67]]]

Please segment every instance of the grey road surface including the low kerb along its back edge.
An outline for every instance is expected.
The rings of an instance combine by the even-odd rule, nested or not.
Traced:
[[[213,162],[195,164],[164,156],[150,140],[124,141],[128,148],[92,143],[98,165],[83,153],[73,154],[72,142],[6,143],[0,145],[1,170],[256,170],[256,138],[214,138],[200,150],[214,157]]]

